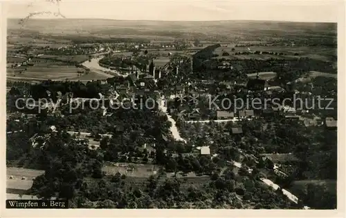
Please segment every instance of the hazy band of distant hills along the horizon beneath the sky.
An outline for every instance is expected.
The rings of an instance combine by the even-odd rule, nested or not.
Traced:
[[[336,23],[298,23],[279,21],[121,21],[112,19],[8,19],[8,31],[44,34],[155,35],[216,41],[260,37],[336,37]],[[215,41],[214,40],[214,41]]]

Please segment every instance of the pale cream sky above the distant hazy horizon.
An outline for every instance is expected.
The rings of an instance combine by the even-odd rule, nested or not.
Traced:
[[[6,3],[7,17],[23,18],[30,12],[58,12],[66,18],[99,18],[158,21],[304,21],[337,22],[340,5],[336,1],[149,1],[149,0],[49,0]],[[338,4],[338,5],[337,5]],[[35,18],[55,18],[53,14]]]

